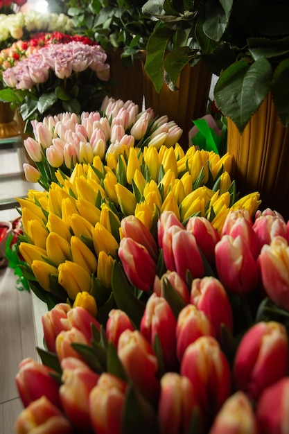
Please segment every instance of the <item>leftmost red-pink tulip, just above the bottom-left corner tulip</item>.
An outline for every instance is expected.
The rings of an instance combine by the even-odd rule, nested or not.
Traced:
[[[21,361],[15,381],[24,407],[42,396],[49,399],[55,406],[60,406],[59,384],[51,374],[53,370],[40,365],[32,358],[24,358]]]

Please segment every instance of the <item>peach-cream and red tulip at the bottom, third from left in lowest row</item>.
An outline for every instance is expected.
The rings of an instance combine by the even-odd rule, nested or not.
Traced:
[[[103,373],[89,394],[89,415],[94,431],[98,434],[121,434],[123,407],[125,405],[125,381]]]

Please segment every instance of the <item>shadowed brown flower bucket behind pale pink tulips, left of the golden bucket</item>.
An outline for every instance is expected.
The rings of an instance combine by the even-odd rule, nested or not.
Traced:
[[[143,94],[146,108],[152,107],[156,115],[167,114],[170,121],[175,120],[183,130],[179,144],[187,149],[193,119],[206,114],[211,72],[202,61],[194,67],[186,64],[177,79],[176,85],[179,90],[171,91],[164,84],[158,94],[144,70],[144,63],[143,61]]]

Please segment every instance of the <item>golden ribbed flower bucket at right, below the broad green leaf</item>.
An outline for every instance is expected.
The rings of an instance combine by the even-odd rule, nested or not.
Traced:
[[[289,129],[277,115],[272,96],[263,101],[240,134],[228,119],[227,151],[233,156],[231,176],[240,193],[259,191],[261,208],[289,218]]]

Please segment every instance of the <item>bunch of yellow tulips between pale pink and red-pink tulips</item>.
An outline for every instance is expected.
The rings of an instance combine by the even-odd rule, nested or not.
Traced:
[[[122,218],[136,216],[155,236],[161,212],[170,210],[184,225],[198,214],[220,232],[230,209],[253,216],[260,203],[259,193],[237,201],[230,168],[227,154],[162,145],[123,146],[106,164],[96,155],[92,164],[76,164],[70,177],[57,171],[49,191],[18,199],[19,252],[30,287],[51,304],[87,291],[98,308],[110,309]]]

